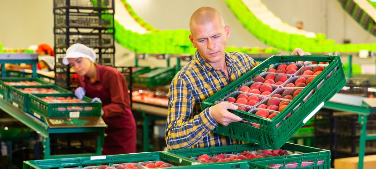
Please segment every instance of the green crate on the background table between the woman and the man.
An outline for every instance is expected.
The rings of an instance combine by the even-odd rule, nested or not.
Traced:
[[[147,77],[144,77],[144,75]],[[148,87],[155,87],[171,81],[174,76],[174,68],[154,68],[147,73],[133,75],[133,83]]]

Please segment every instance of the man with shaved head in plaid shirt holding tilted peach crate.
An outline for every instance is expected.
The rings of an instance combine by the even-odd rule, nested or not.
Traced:
[[[222,102],[202,110],[201,103],[227,84],[257,65],[244,53],[226,53],[230,27],[214,8],[202,7],[190,19],[195,57],[180,70],[171,82],[168,94],[168,122],[165,139],[169,149],[201,148],[240,144],[242,141],[211,133],[218,124],[227,126],[241,121],[227,109],[238,107]],[[296,48],[292,54],[309,54]]]

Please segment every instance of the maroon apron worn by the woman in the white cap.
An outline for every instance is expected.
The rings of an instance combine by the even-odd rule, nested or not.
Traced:
[[[90,98],[100,98],[102,106],[111,103],[111,95],[103,85],[100,90],[88,88],[88,85],[85,85],[84,89],[86,96]],[[105,137],[105,144],[103,145],[103,155],[136,152],[136,122],[130,109],[125,109],[122,115],[103,118],[103,121],[108,125],[105,130],[107,136]]]

